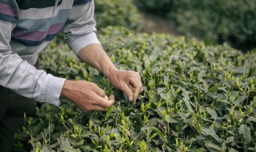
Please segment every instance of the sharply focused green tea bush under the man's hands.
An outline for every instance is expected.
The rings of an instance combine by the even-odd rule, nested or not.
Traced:
[[[70,52],[51,46],[46,71],[95,82],[116,102],[107,112],[85,113],[66,99],[43,104],[16,138],[32,151],[249,151],[256,150],[256,53],[206,46],[168,34],[135,34],[121,27],[99,39],[120,69],[136,70],[144,92],[128,102],[108,79]]]

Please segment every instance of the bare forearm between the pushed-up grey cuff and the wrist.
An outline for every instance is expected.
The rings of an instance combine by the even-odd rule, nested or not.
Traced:
[[[104,74],[106,78],[110,78],[110,74],[114,70],[117,70],[113,62],[111,62],[110,58],[103,50],[102,46],[98,44],[91,44],[82,48],[78,53],[78,57],[90,66],[96,68]]]

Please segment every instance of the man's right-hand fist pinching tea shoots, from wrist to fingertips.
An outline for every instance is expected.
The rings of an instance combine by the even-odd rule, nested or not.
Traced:
[[[138,94],[142,93],[142,81],[138,72],[131,70],[112,70],[110,82],[119,90],[122,90],[130,102],[135,102]]]

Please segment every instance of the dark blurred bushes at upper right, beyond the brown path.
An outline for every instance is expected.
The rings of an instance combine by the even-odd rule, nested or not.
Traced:
[[[138,0],[140,6],[169,12],[180,34],[206,40],[228,42],[238,49],[247,50],[256,45],[256,1],[242,0]],[[161,3],[162,5],[157,5]],[[152,5],[154,4],[154,5]],[[164,5],[166,4],[166,5]],[[154,7],[155,6],[155,7]],[[162,7],[161,7],[162,6]]]

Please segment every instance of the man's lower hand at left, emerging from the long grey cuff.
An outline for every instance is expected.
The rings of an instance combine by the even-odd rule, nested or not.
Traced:
[[[66,80],[61,96],[69,98],[84,111],[106,111],[114,104],[114,95],[107,98],[105,91],[93,82]]]

